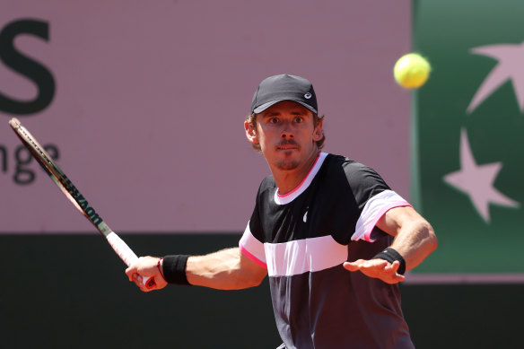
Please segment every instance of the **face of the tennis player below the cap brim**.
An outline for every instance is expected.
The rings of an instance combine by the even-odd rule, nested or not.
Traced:
[[[322,122],[315,127],[309,109],[284,100],[258,114],[257,129],[246,126],[246,132],[250,142],[260,144],[272,169],[294,170],[316,158]]]

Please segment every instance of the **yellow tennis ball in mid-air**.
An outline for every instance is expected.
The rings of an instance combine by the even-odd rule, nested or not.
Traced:
[[[400,86],[417,89],[428,80],[431,70],[432,66],[424,57],[416,53],[408,53],[397,60],[393,74]]]

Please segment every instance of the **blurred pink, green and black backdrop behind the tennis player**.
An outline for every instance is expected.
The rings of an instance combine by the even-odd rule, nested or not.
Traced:
[[[6,348],[273,348],[267,282],[143,294],[39,170],[16,116],[138,255],[236,246],[269,172],[243,131],[297,74],[325,151],[415,205],[439,249],[402,284],[419,348],[514,347],[524,310],[524,5],[465,0],[0,4],[0,333]],[[432,64],[408,91],[399,57]],[[3,346],[4,346],[3,345]]]

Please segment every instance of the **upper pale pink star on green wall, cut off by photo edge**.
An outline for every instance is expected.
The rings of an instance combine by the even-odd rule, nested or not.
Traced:
[[[515,97],[519,102],[520,111],[524,111],[524,42],[521,44],[501,44],[472,48],[471,52],[493,57],[499,63],[495,65],[476,91],[473,100],[467,106],[467,113],[471,114],[502,83],[510,79],[513,83]]]

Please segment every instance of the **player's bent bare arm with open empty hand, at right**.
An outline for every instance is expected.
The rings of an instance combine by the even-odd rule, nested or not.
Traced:
[[[405,268],[409,270],[422,263],[437,248],[437,238],[431,224],[411,206],[390,209],[380,217],[377,227],[395,237],[390,246],[394,251],[389,251],[387,258],[394,261],[390,262],[380,256],[369,260],[358,259],[345,262],[344,267],[347,270],[360,270],[385,283],[397,284],[404,281],[405,276],[397,273],[401,263],[395,257],[395,252],[404,259]]]

